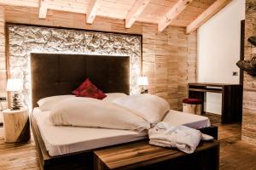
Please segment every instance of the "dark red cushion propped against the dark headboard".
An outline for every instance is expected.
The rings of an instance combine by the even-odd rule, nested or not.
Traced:
[[[73,92],[78,97],[88,97],[95,99],[104,99],[107,97],[106,94],[102,92],[102,90],[96,88],[96,86],[90,82],[89,78],[79,86],[79,88],[75,89]]]

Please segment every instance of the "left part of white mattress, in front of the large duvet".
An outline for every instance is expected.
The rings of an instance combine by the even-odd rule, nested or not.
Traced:
[[[35,108],[32,114],[38,123],[49,156],[93,150],[148,138],[146,132],[138,133],[129,130],[96,127],[54,126],[48,121],[49,111],[40,111]]]

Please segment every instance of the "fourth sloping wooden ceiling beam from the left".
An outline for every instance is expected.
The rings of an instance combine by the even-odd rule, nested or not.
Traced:
[[[158,23],[158,31],[165,30],[166,27],[177,18],[177,15],[181,14],[192,1],[193,0],[178,0],[178,2],[164,16],[161,17]]]

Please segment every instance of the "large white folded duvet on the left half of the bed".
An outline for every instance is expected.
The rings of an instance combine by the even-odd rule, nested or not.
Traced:
[[[50,111],[49,122],[55,125],[105,127],[114,129],[148,129],[149,123],[140,116],[99,99],[74,98],[62,100]]]

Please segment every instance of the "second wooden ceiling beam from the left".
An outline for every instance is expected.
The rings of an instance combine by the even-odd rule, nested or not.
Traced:
[[[96,17],[97,10],[101,7],[102,0],[90,0],[89,8],[86,13],[86,23],[92,24]]]

